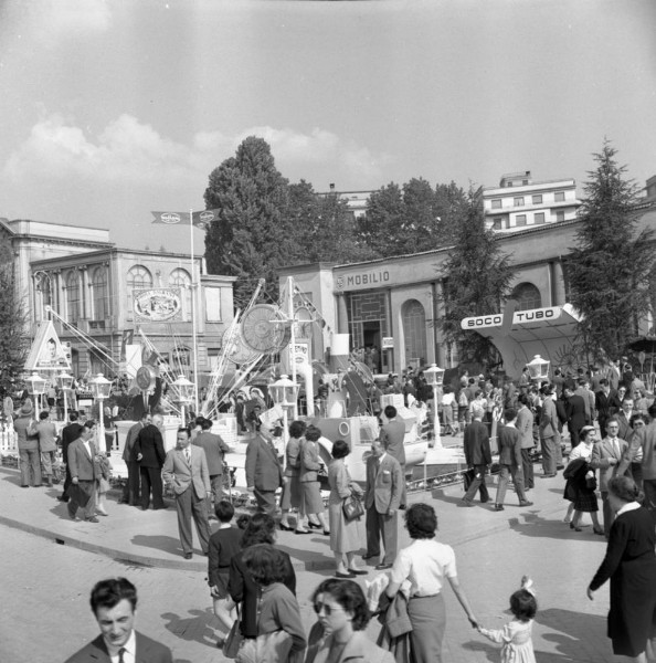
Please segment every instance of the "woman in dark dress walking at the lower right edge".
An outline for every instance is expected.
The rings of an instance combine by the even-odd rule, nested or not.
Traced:
[[[649,512],[639,505],[633,478],[614,476],[609,501],[617,516],[606,556],[588,588],[588,598],[611,579],[609,638],[613,653],[646,663],[647,641],[656,636],[656,534]]]

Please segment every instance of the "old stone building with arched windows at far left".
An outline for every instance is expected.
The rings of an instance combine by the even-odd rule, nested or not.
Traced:
[[[189,369],[192,297],[199,372],[211,369],[233,319],[234,277],[207,274],[200,256],[191,263],[186,253],[119,249],[107,230],[0,219],[0,236],[12,245],[17,288],[30,314],[29,332],[34,334],[35,324],[49,318],[51,307],[62,343],[71,346],[74,375],[115,372],[93,346],[118,361],[124,332],[129,330],[137,333],[136,339],[142,330],[165,360]],[[135,295],[151,288],[178,297],[174,317],[148,319],[135,311]]]

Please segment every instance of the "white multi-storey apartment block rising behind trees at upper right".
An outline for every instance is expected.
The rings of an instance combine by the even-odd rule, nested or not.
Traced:
[[[570,221],[580,204],[573,179],[533,182],[530,170],[504,175],[498,187],[483,189],[486,225],[496,232]]]

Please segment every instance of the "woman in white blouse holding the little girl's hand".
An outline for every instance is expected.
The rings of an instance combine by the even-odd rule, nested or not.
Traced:
[[[434,540],[437,530],[435,509],[427,504],[413,504],[405,512],[405,527],[414,540],[396,556],[385,593],[393,598],[401,585],[410,580],[408,614],[412,623],[412,660],[414,663],[441,663],[446,625],[442,596],[445,579],[474,627],[476,618],[461,588],[453,548]]]

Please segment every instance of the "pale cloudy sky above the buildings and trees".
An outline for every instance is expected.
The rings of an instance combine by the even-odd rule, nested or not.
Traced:
[[[250,135],[317,191],[656,175],[654,0],[0,0],[0,217],[189,249]],[[203,233],[194,229],[197,252]]]

